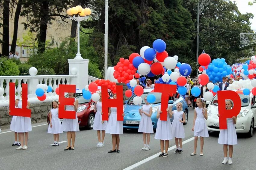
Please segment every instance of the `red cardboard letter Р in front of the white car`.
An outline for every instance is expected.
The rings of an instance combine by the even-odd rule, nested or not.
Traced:
[[[218,109],[220,129],[227,129],[227,118],[237,116],[241,110],[241,99],[239,95],[232,90],[218,91]],[[233,101],[233,109],[226,110],[226,100]]]

